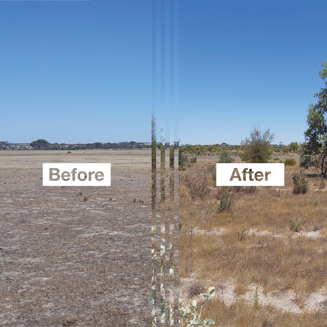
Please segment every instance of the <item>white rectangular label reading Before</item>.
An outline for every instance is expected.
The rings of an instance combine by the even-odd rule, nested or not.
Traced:
[[[43,186],[111,186],[111,163],[43,163]]]

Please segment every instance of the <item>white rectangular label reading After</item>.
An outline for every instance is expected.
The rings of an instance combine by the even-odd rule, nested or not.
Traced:
[[[284,186],[284,163],[217,163],[216,186]]]

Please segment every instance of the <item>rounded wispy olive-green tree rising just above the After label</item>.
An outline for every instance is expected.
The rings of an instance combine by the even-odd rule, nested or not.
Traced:
[[[270,128],[262,132],[260,127],[253,127],[250,137],[241,141],[240,158],[249,163],[267,163],[273,152],[271,142],[274,137]]]

